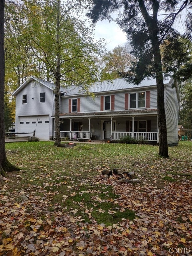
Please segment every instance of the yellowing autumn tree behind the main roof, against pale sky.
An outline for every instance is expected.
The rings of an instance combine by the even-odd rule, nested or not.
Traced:
[[[128,71],[132,60],[128,43],[108,51],[99,60],[99,64],[102,67],[101,80],[119,78],[119,72]]]

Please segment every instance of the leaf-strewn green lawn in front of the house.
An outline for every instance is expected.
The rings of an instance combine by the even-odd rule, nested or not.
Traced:
[[[168,159],[157,146],[113,143],[7,143],[6,154],[21,171],[0,184],[1,256],[191,252],[191,142]],[[141,183],[104,180],[113,168]]]

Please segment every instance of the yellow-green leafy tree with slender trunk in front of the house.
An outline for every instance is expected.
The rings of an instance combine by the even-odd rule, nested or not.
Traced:
[[[41,78],[53,80],[56,85],[54,92],[57,145],[60,143],[60,84],[63,87],[78,86],[80,90],[89,93],[89,85],[98,80],[95,60],[102,46],[98,42],[93,42],[92,28],[86,25],[86,21],[79,19],[83,8],[82,1],[20,3],[23,4],[27,10],[24,20],[27,31],[19,30],[22,44],[28,46],[28,55],[32,55],[40,63]]]

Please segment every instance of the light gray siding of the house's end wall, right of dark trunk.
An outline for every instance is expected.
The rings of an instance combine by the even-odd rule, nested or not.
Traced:
[[[173,79],[171,81],[173,82]],[[177,98],[176,88],[172,88],[172,83],[169,83],[165,87],[165,113],[168,145],[177,145],[179,101]]]

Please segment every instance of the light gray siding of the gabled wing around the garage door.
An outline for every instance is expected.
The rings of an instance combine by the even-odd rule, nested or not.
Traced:
[[[35,87],[31,87],[29,82],[18,94],[16,95],[16,120],[15,132],[19,130],[19,117],[31,117],[36,119],[37,116],[49,116],[49,131],[47,139],[52,136],[52,115],[53,115],[53,92],[46,86],[36,82]],[[45,102],[40,102],[40,93],[45,92]],[[22,104],[22,95],[27,95],[27,103]],[[33,99],[32,99],[33,98]],[[29,127],[30,128],[30,127]],[[31,127],[31,129],[33,126]],[[25,130],[24,127],[22,130]],[[18,136],[24,136],[18,134]],[[41,138],[40,138],[41,139]]]

